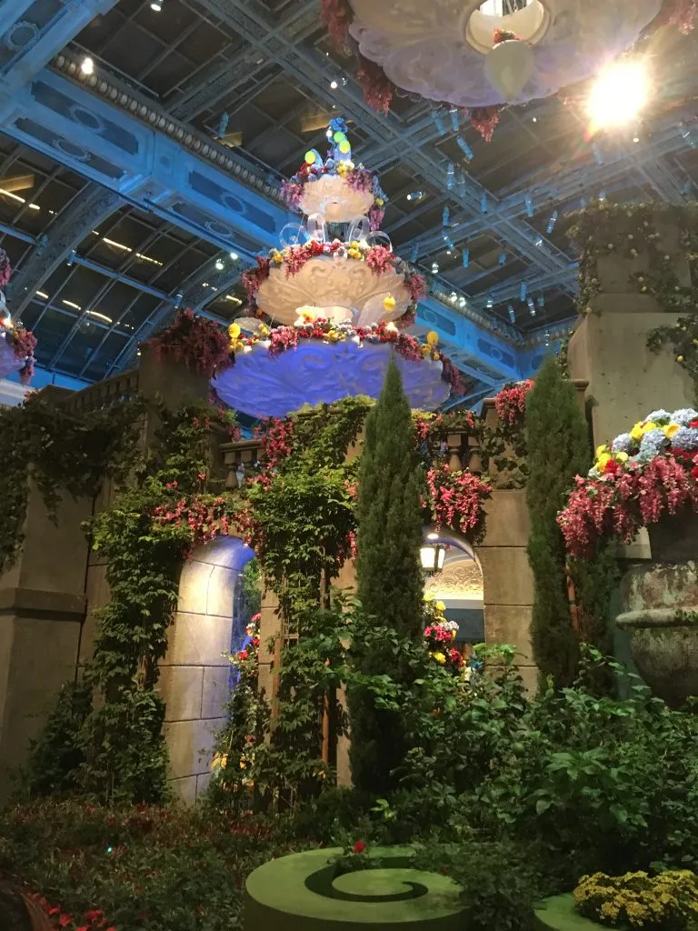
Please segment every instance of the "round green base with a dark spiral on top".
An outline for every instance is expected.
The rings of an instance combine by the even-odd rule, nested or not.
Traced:
[[[248,876],[245,931],[459,931],[460,888],[447,876],[409,869],[409,848],[370,856],[381,869],[338,875],[342,850],[309,850],[265,863]]]

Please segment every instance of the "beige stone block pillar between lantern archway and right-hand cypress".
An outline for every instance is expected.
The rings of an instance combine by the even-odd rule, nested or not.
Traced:
[[[492,491],[487,503],[487,532],[476,550],[482,570],[485,641],[517,647],[517,665],[532,693],[538,686],[538,669],[530,643],[533,573],[527,553],[529,535],[526,492]]]

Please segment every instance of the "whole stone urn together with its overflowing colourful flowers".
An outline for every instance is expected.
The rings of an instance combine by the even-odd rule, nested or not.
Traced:
[[[616,623],[631,632],[638,671],[667,705],[698,695],[698,412],[653,411],[599,446],[557,522],[577,557],[647,528],[652,562],[625,575]]]

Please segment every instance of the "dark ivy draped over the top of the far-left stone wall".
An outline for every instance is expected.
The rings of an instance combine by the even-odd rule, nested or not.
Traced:
[[[0,525],[0,572],[17,559],[29,496],[28,477],[55,515],[60,495],[96,494],[105,478],[124,479],[139,437],[141,405],[76,416],[40,393],[20,407],[0,409],[0,463],[5,494]]]

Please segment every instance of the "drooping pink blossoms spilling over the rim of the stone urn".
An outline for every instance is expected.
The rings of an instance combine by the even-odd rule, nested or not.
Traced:
[[[691,474],[698,473],[696,466],[698,455],[684,465],[667,453],[645,465],[628,463],[602,479],[577,476],[567,506],[557,515],[570,554],[588,556],[605,536],[630,543],[640,527],[684,506],[698,512],[698,483]]]

